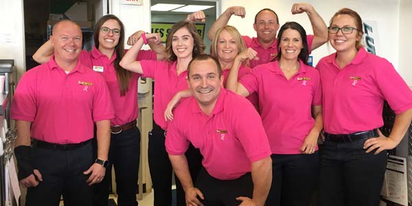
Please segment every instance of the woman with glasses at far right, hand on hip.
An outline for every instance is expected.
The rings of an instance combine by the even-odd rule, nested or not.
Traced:
[[[361,45],[361,16],[343,8],[330,20],[329,42],[336,53],[317,69],[323,88],[325,142],[320,149],[319,205],[376,206],[387,152],[412,119],[412,92],[390,62]],[[391,134],[380,133],[384,100],[396,113]]]

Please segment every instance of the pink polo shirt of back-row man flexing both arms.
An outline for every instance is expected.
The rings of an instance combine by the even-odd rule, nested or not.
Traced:
[[[244,40],[244,43],[246,43],[246,47],[251,47],[253,50],[258,52],[259,60],[250,60],[251,68],[254,68],[258,65],[266,64],[267,62],[270,62],[271,60],[273,60],[273,58],[275,58],[277,54],[277,40],[275,40],[270,47],[264,49],[264,47],[260,45],[257,37],[250,38],[249,36],[242,36],[242,38]],[[307,35],[306,39],[308,41],[310,54],[310,48],[312,47],[313,42],[313,35]]]

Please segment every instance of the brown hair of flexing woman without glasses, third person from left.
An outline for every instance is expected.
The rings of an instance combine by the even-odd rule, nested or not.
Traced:
[[[198,56],[198,54],[203,54],[205,50],[205,44],[203,43],[203,40],[201,36],[199,36],[198,32],[196,32],[196,27],[194,24],[190,21],[179,21],[174,23],[172,28],[170,29],[170,32],[168,34],[168,38],[166,38],[166,59],[170,61],[175,61],[177,60],[176,54],[174,54],[173,49],[172,49],[172,39],[174,33],[177,32],[177,30],[180,30],[181,28],[186,27],[187,30],[192,34],[193,38],[193,51],[192,51],[192,57]]]

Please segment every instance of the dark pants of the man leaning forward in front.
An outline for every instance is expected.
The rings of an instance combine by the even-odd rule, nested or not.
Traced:
[[[205,196],[205,201],[202,201],[205,206],[238,206],[242,202],[236,201],[237,197],[253,197],[253,181],[250,172],[238,179],[225,181],[214,178],[202,167],[196,180],[196,187]]]

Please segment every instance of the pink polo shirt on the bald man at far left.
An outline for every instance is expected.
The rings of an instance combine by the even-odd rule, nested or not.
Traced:
[[[75,144],[93,138],[93,122],[114,117],[106,82],[82,65],[66,74],[49,62],[23,74],[12,101],[11,117],[32,122],[34,139]]]

